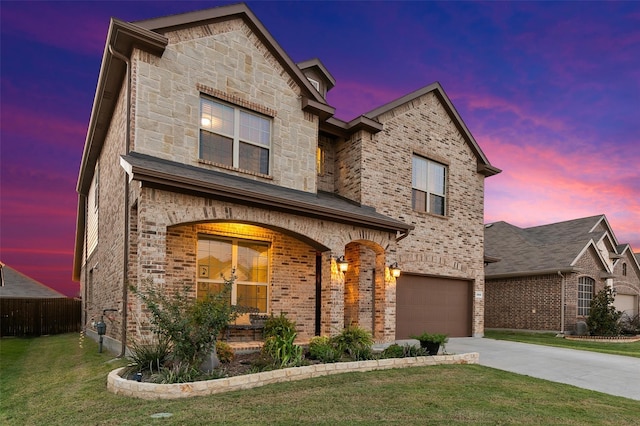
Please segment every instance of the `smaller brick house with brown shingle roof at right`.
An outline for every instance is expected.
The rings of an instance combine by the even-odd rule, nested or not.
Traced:
[[[532,228],[485,226],[485,327],[576,331],[593,296],[615,290],[615,305],[638,313],[640,265],[604,215]]]

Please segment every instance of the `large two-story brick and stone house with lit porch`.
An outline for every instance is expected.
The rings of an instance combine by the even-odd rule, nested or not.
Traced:
[[[300,339],[481,336],[484,178],[500,170],[439,84],[349,122],[334,85],[243,4],[113,19],[77,187],[85,324],[117,309],[124,350],[148,332],[129,284],[198,298],[235,269],[231,303],[285,312]]]

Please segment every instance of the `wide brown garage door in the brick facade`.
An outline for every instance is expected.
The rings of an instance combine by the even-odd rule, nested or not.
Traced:
[[[396,286],[396,339],[423,331],[471,336],[471,282],[403,274]]]

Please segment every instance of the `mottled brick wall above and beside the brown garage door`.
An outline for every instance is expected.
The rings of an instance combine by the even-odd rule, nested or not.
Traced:
[[[484,291],[484,177],[471,148],[433,93],[378,119],[382,132],[359,136],[362,203],[415,225],[399,243],[399,265],[406,272],[472,280],[474,291]],[[413,154],[447,166],[444,217],[411,207]],[[473,335],[482,335],[483,322],[484,300],[474,298]]]

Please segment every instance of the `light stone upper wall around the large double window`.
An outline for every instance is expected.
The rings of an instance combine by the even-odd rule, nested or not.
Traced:
[[[233,19],[165,36],[161,58],[136,51],[135,151],[315,192],[318,119],[251,29]],[[272,117],[270,176],[198,160],[201,93]]]

